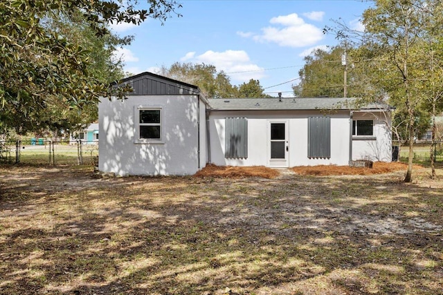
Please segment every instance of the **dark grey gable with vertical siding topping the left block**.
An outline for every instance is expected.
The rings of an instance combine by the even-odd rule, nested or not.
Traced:
[[[178,80],[144,72],[120,81],[118,86],[129,84],[134,90],[129,95],[199,95],[199,88]],[[116,87],[117,83],[111,84]]]

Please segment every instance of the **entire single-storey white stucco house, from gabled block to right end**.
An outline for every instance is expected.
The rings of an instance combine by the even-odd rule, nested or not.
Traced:
[[[390,162],[390,108],[356,99],[206,99],[197,86],[142,73],[99,104],[99,169],[189,175],[207,163],[269,167]]]

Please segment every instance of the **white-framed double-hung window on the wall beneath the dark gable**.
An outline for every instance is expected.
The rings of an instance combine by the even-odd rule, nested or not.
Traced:
[[[161,108],[136,108],[136,142],[159,143],[162,138]]]

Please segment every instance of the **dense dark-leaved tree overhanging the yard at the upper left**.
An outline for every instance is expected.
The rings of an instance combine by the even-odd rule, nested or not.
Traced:
[[[109,55],[100,61],[96,53],[123,40],[112,41],[107,24],[164,21],[179,7],[175,1],[148,2],[150,10],[136,9],[136,0],[1,1],[0,128],[25,132],[51,126],[54,117],[42,119],[44,110],[82,111],[111,95],[105,77],[119,77],[118,63],[109,63]]]

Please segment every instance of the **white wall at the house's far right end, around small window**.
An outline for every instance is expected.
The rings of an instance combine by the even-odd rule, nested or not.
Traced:
[[[354,112],[353,120],[374,120],[374,136],[352,137],[352,160],[392,161],[390,116],[382,112]]]

